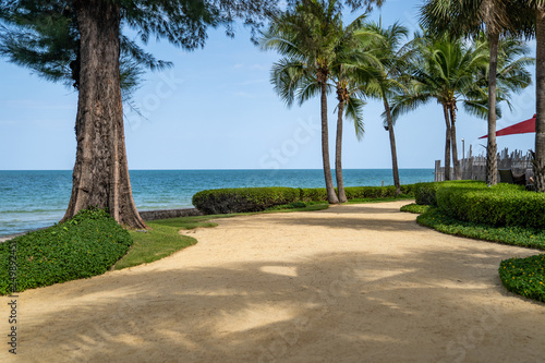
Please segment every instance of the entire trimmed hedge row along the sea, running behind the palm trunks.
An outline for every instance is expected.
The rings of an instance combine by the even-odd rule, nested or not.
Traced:
[[[348,186],[348,199],[396,196],[395,186]],[[410,195],[413,185],[401,185],[401,193]],[[193,195],[193,205],[205,215],[262,211],[276,205],[296,202],[327,202],[325,187],[241,187],[202,191]]]

